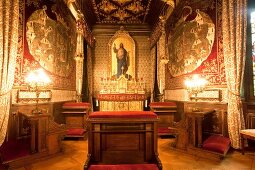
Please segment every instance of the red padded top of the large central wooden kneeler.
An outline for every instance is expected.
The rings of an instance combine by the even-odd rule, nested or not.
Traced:
[[[151,111],[101,111],[93,112],[89,118],[157,118]]]

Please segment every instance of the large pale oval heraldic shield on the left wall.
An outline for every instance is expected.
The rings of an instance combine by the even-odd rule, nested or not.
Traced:
[[[57,21],[46,14],[47,7],[36,10],[26,23],[28,49],[34,59],[49,72],[66,77],[73,69],[76,42],[68,35],[69,28],[56,13]],[[70,37],[69,37],[70,36]],[[66,41],[68,40],[68,41]]]

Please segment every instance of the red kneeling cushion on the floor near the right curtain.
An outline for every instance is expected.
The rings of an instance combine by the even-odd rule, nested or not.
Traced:
[[[230,139],[220,135],[212,135],[204,141],[202,147],[225,155],[230,147]]]

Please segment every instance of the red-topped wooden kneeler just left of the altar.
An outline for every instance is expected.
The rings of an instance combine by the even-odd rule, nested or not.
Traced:
[[[84,137],[90,107],[90,103],[86,102],[66,102],[63,104],[62,114],[65,116],[67,127],[65,137]]]

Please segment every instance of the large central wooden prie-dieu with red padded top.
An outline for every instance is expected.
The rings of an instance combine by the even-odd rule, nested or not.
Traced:
[[[162,169],[157,122],[157,115],[151,111],[92,112],[84,169],[104,164],[154,164]]]

